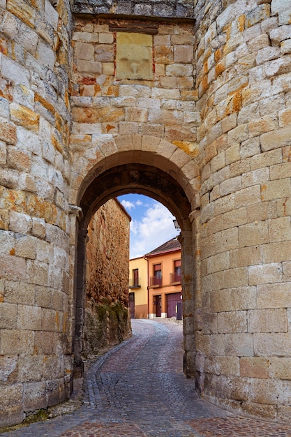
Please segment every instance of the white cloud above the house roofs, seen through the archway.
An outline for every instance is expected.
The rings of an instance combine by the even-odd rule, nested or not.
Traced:
[[[130,223],[130,258],[137,258],[161,246],[177,235],[170,211],[156,201],[140,220]]]

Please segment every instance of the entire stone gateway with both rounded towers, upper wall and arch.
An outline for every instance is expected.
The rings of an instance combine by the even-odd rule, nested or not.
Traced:
[[[130,192],[181,228],[186,375],[290,421],[290,23],[290,0],[0,0],[2,426],[70,396],[89,221]]]

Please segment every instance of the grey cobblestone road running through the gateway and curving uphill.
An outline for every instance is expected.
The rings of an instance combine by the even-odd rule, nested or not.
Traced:
[[[291,427],[227,413],[195,394],[182,371],[182,326],[133,320],[133,338],[94,363],[79,410],[7,437],[291,437]]]

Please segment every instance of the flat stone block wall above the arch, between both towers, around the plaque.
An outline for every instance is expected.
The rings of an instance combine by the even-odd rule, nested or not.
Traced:
[[[147,22],[146,27],[141,30],[140,22],[135,21],[121,21],[117,27],[115,22],[94,16],[89,21],[87,17],[75,20],[70,145],[76,190],[80,176],[94,159],[107,156],[106,149],[114,147],[112,138],[120,135],[163,138],[189,156],[197,155],[200,114],[193,91],[193,24]],[[115,53],[119,50],[118,36],[122,42],[124,35],[137,40],[135,51],[150,44],[153,54],[147,61],[151,62],[151,77],[135,79],[130,70],[135,60],[125,59],[128,77],[117,80],[122,68]],[[86,145],[85,152],[80,145]],[[150,150],[151,145],[144,147]]]

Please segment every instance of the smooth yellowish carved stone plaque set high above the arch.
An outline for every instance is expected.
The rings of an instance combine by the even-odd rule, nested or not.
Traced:
[[[117,32],[117,79],[153,78],[151,35]]]

